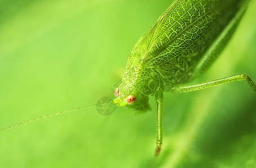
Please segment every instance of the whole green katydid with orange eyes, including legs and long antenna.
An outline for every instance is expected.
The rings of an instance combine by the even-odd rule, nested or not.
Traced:
[[[245,74],[181,86],[214,62],[231,38],[248,3],[249,0],[177,0],[134,46],[122,84],[115,90],[117,97],[105,104],[145,111],[149,108],[149,96],[155,96],[158,105],[156,155],[159,155],[163,141],[163,91],[189,92],[241,80],[247,80],[256,91],[255,84]]]

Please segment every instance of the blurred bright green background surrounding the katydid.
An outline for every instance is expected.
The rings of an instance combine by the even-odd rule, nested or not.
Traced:
[[[173,1],[0,1],[0,128],[114,97],[128,55]],[[256,81],[253,1],[220,58],[196,82]],[[245,81],[164,94],[140,115],[88,108],[0,132],[0,167],[256,167],[256,95]]]

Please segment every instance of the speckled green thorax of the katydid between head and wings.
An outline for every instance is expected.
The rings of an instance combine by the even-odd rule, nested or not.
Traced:
[[[147,67],[141,56],[133,52],[129,55],[122,82],[145,96],[154,95],[160,87],[167,91],[190,78],[191,66],[188,59],[178,57],[158,67]]]

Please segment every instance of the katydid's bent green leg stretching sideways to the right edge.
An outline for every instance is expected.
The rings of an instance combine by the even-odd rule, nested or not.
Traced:
[[[208,88],[208,87],[221,85],[221,84],[224,84],[224,83],[230,83],[230,82],[235,82],[235,81],[244,81],[244,80],[247,80],[250,87],[256,93],[255,83],[250,79],[249,76],[246,76],[244,73],[236,74],[236,75],[233,75],[233,76],[221,78],[221,79],[214,80],[214,81],[199,83],[197,85],[174,87],[174,88],[172,88],[172,91],[173,92],[179,92],[179,93],[180,92],[191,92],[191,91],[201,90],[201,89]]]

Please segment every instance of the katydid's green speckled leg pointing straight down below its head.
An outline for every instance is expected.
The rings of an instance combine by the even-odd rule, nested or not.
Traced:
[[[163,91],[159,91],[155,95],[156,104],[158,105],[157,111],[157,127],[156,127],[156,151],[155,155],[158,156],[161,151],[161,144],[163,143]]]

